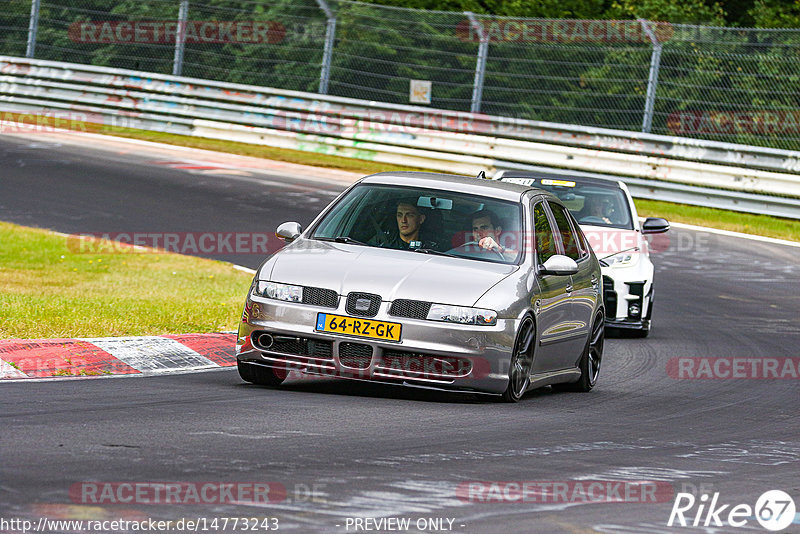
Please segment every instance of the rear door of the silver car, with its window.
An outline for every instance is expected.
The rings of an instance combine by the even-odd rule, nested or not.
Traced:
[[[571,284],[568,291],[571,334],[565,366],[572,366],[583,352],[591,328],[592,313],[597,302],[597,288],[599,280],[594,270],[591,255],[584,246],[584,241],[578,233],[574,219],[570,217],[567,209],[556,202],[548,201],[548,207],[553,214],[553,220],[558,228],[558,237],[561,240],[563,254],[575,260],[578,272],[570,277]]]

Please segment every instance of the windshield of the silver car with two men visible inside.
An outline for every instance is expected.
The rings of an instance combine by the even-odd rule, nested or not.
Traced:
[[[521,220],[518,202],[447,190],[359,184],[323,217],[311,237],[517,263]]]

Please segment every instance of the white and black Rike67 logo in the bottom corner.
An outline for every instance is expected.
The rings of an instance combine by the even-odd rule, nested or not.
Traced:
[[[743,528],[755,518],[765,529],[777,532],[794,522],[796,512],[794,500],[781,490],[764,492],[755,507],[722,504],[719,492],[711,498],[704,493],[699,499],[691,493],[678,493],[667,526]]]

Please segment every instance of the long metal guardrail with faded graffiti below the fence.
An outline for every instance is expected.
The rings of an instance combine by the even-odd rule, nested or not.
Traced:
[[[800,152],[0,56],[0,107],[474,174],[603,174],[638,196],[800,219]],[[552,169],[550,169],[552,170]],[[792,198],[781,198],[781,195]]]

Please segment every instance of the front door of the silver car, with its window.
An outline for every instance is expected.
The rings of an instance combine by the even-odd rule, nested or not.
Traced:
[[[561,254],[561,240],[554,231],[554,224],[545,202],[536,203],[532,210],[534,243],[536,257],[534,269],[539,275],[539,294],[536,297],[534,310],[537,328],[539,329],[539,346],[536,347],[532,372],[546,373],[563,369],[564,353],[568,350],[572,314],[567,289],[572,283],[570,276],[541,274],[539,266],[555,254]]]

